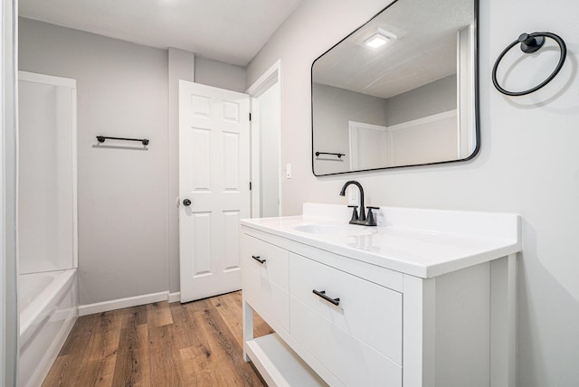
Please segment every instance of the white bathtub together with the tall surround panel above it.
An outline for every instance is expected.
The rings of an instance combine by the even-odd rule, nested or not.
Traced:
[[[18,385],[40,385],[78,316],[76,80],[18,71]]]

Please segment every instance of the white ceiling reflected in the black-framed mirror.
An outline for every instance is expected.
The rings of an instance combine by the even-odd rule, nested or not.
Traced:
[[[472,24],[472,0],[399,0],[316,61],[317,83],[391,98],[457,71],[456,32]],[[363,42],[394,33],[376,50]]]

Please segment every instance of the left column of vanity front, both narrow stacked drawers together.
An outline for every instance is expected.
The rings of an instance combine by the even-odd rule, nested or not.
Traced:
[[[243,297],[289,332],[288,251],[246,234],[241,245]]]

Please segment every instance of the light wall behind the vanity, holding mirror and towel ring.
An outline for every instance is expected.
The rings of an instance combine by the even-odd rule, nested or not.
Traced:
[[[472,161],[317,178],[304,150],[311,145],[311,63],[386,3],[304,2],[247,68],[247,82],[252,84],[275,61],[284,63],[282,165],[292,164],[293,178],[282,184],[283,213],[300,213],[303,202],[346,204],[337,193],[352,178],[364,184],[369,203],[520,212],[524,252],[518,266],[518,385],[574,385],[579,380],[579,23],[575,16],[579,4],[572,0],[548,5],[538,0],[480,2],[481,146]],[[523,17],[521,9],[525,9]],[[490,80],[498,53],[520,33],[545,30],[567,42],[564,69],[544,90],[527,98],[499,94]],[[517,54],[513,53],[515,58]],[[555,50],[545,50],[545,55],[522,61],[511,72],[518,84],[508,86],[522,90],[540,82],[552,71],[556,55]]]

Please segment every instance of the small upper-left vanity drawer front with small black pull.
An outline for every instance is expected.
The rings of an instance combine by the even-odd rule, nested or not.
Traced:
[[[243,267],[259,271],[261,278],[288,291],[288,250],[242,234]]]

